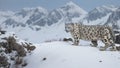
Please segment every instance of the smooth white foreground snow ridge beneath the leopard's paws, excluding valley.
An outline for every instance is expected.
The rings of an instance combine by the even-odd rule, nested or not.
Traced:
[[[81,46],[62,41],[36,44],[36,49],[25,59],[28,65],[24,68],[120,68],[118,51],[99,51],[87,43]]]

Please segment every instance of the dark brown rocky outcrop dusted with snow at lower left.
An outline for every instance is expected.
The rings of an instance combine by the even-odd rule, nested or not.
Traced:
[[[15,34],[0,36],[0,68],[10,68],[11,65],[15,68],[26,66],[24,57],[36,47],[32,43],[19,41]],[[14,64],[11,64],[11,61]]]

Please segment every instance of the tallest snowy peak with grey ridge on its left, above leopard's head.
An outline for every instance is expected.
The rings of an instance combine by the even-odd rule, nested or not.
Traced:
[[[81,17],[84,14],[87,14],[85,10],[73,2],[68,2],[66,5],[51,11],[48,14],[47,21],[48,25],[51,25],[57,23],[63,18],[71,21],[73,18]]]

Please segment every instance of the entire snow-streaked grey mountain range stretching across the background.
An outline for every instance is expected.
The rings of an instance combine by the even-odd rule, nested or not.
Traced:
[[[42,7],[23,8],[18,12],[0,11],[1,26],[38,26],[52,25],[62,22],[82,22],[84,24],[101,24],[111,25],[115,29],[119,29],[120,25],[120,7],[100,6],[86,12],[73,2],[68,2],[66,5],[47,11]]]

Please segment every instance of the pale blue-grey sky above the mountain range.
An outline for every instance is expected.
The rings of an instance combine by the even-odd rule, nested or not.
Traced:
[[[0,10],[20,10],[24,7],[44,7],[48,10],[59,8],[72,1],[86,11],[101,5],[120,6],[120,0],[0,0]]]

